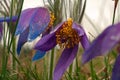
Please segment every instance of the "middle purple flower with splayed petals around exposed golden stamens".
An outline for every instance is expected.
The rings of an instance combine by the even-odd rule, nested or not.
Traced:
[[[89,47],[89,41],[85,31],[70,18],[68,21],[57,25],[55,30],[42,37],[35,45],[35,49],[40,51],[48,51],[57,44],[64,47],[62,55],[55,67],[53,80],[59,80],[67,67],[73,62],[78,51],[79,42],[84,49]]]

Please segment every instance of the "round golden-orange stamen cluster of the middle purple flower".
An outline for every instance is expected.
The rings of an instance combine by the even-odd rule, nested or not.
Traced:
[[[69,18],[56,32],[56,42],[62,47],[71,48],[80,41],[80,37],[76,30],[72,28],[72,24],[73,20]]]

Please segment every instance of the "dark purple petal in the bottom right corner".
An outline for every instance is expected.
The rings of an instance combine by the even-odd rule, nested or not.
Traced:
[[[120,80],[120,55],[117,57],[113,66],[112,80]]]

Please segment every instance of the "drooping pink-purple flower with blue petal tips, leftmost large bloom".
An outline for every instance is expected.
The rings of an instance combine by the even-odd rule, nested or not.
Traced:
[[[51,27],[54,21],[53,14],[50,14],[47,8],[37,7],[22,11],[16,29],[16,35],[19,35],[17,53],[20,54],[22,46],[27,41],[33,41],[48,27]]]

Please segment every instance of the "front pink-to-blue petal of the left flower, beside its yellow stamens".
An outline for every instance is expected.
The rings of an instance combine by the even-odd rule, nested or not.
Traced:
[[[46,8],[37,8],[31,17],[28,40],[32,41],[48,27],[50,14]]]

